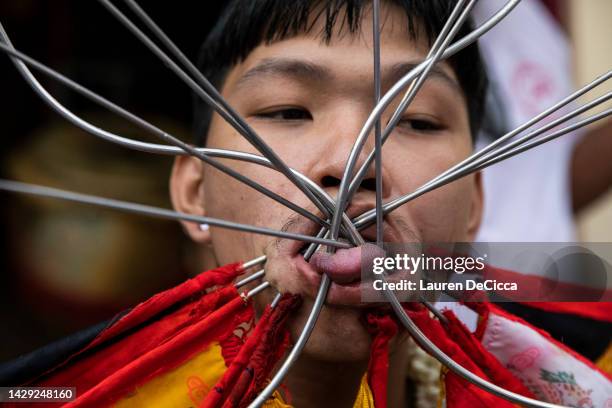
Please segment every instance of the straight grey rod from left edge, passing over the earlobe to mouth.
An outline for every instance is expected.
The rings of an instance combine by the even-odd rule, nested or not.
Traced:
[[[279,238],[294,239],[297,241],[304,241],[310,243],[317,243],[322,245],[329,245],[338,248],[350,248],[351,245],[332,241],[329,239],[322,239],[317,237],[311,237],[308,235],[295,234],[286,231],[277,231],[265,227],[256,227],[248,224],[241,224],[232,221],[221,220],[213,217],[202,217],[192,214],[185,214],[177,211],[167,210],[164,208],[153,207],[144,204],[131,203],[127,201],[114,200],[111,198],[103,198],[92,196],[88,194],[75,193],[72,191],[61,190],[57,188],[37,186],[34,184],[21,183],[18,181],[2,180],[0,179],[0,190],[11,191],[22,194],[30,194],[35,196],[58,198],[67,201],[73,201],[77,203],[93,204],[99,207],[112,208],[125,212],[144,214],[152,217],[171,219],[171,220],[183,220],[189,222],[195,222],[199,224],[209,224],[220,228],[233,229],[244,232],[251,232],[255,234],[271,235]]]

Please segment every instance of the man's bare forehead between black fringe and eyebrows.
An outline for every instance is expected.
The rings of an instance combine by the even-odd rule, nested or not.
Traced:
[[[381,10],[381,74],[383,86],[397,81],[421,62],[429,50],[426,35],[418,31],[416,40],[409,34],[404,10],[383,3]],[[364,8],[360,28],[348,32],[338,19],[329,42],[321,39],[323,18],[313,21],[308,33],[260,44],[241,63],[228,72],[225,86],[258,85],[278,79],[302,79],[343,85],[368,86],[373,80],[373,29],[371,9]],[[283,78],[284,77],[284,78]],[[431,75],[459,89],[456,76],[446,63]]]

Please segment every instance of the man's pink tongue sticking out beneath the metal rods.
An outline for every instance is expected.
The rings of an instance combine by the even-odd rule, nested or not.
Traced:
[[[362,257],[374,258],[381,254],[384,255],[384,252],[377,246],[366,244],[349,249],[339,249],[333,254],[316,252],[310,259],[310,264],[317,272],[327,274],[335,283],[347,284],[360,280]],[[366,265],[369,263],[367,262]]]

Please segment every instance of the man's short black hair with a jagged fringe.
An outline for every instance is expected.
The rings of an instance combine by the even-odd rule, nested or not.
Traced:
[[[402,8],[407,17],[408,35],[414,41],[422,33],[429,45],[442,30],[454,0],[387,0]],[[319,36],[329,43],[334,32],[359,30],[369,0],[231,0],[201,47],[198,69],[220,89],[229,70],[263,43],[273,43],[300,33],[310,33],[313,22],[324,19]],[[336,24],[340,24],[334,29]],[[471,30],[467,22],[455,39]],[[487,76],[477,44],[453,57],[455,71],[467,101],[472,138],[480,128],[487,88]],[[206,142],[212,109],[194,99],[194,132],[198,145]]]

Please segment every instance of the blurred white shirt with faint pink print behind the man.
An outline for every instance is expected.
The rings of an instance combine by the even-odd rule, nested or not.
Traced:
[[[472,13],[475,24],[482,24],[504,3],[479,1]],[[574,89],[567,39],[539,1],[523,0],[481,37],[480,48],[506,122],[496,137]],[[483,171],[484,216],[477,241],[575,240],[569,175],[576,136],[564,135]],[[492,140],[481,133],[477,149]]]

